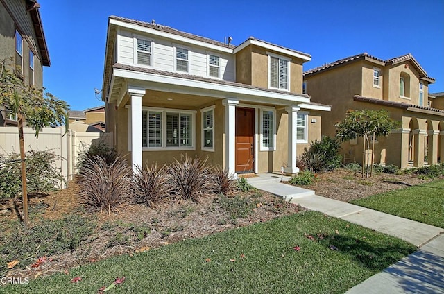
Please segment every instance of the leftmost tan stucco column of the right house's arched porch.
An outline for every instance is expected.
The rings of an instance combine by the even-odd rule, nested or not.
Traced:
[[[409,166],[409,128],[392,130],[386,139],[386,164]]]

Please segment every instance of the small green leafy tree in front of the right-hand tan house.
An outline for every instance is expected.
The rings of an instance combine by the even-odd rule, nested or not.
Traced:
[[[373,153],[375,151],[375,137],[388,136],[391,130],[398,126],[396,121],[391,119],[390,114],[386,110],[348,110],[345,119],[334,125],[336,127],[336,137],[341,141],[348,141],[363,137],[363,154],[362,154],[362,177],[364,178],[364,164],[366,148],[372,150],[372,166]],[[373,138],[373,144],[370,148],[370,138]],[[367,153],[367,163],[369,156]],[[369,164],[367,164],[366,177],[368,178]]]

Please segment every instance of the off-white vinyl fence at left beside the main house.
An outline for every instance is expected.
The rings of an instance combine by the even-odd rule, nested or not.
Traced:
[[[68,130],[65,134],[64,127],[43,128],[37,139],[35,130],[24,128],[25,152],[28,150],[51,150],[52,153],[58,155],[56,168],[60,169],[66,182],[71,180],[77,172],[79,153],[99,141],[112,146],[112,133]],[[19,131],[16,127],[0,127],[0,154],[6,153],[20,153]],[[64,182],[60,182],[60,186],[66,187]]]

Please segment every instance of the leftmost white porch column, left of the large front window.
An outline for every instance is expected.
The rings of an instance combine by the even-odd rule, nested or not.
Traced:
[[[128,89],[131,99],[131,164],[133,173],[137,173],[136,166],[142,167],[142,96],[145,89],[130,88]]]

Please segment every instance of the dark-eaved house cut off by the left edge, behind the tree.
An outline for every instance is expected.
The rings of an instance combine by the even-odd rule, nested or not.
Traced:
[[[41,88],[49,67],[40,5],[35,0],[0,0],[0,60],[8,60],[25,85]],[[0,126],[17,126],[16,114],[0,105]]]

